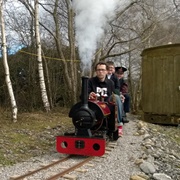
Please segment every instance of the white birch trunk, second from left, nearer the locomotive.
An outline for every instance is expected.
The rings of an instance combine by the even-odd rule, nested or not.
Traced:
[[[46,91],[46,85],[44,81],[44,71],[43,71],[43,63],[42,63],[42,49],[41,49],[41,39],[39,33],[39,0],[34,1],[35,7],[35,33],[36,33],[36,45],[37,45],[37,53],[38,53],[38,71],[39,71],[39,83],[41,88],[42,101],[44,104],[45,110],[50,111],[49,100]]]

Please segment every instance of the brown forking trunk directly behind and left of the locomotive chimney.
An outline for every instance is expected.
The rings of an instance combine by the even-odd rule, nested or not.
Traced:
[[[68,96],[70,99],[70,103],[74,104],[77,102],[77,62],[75,60],[75,37],[74,37],[74,28],[73,28],[73,10],[70,7],[70,0],[66,0],[66,6],[67,6],[67,13],[68,13],[68,39],[69,39],[69,45],[70,45],[70,51],[71,51],[71,57],[70,60],[65,59],[64,53],[63,53],[63,42],[60,35],[60,22],[57,12],[57,4],[59,0],[56,0],[54,12],[53,12],[53,18],[55,22],[55,34],[56,34],[56,47],[57,52],[61,59],[63,59],[62,63],[64,66],[64,78],[66,81],[66,86],[68,89]]]

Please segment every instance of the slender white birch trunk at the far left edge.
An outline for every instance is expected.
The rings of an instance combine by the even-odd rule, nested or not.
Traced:
[[[3,0],[0,0],[0,23],[1,23],[1,35],[2,35],[2,55],[3,55],[3,65],[5,70],[5,81],[9,93],[9,97],[11,100],[11,107],[12,107],[12,119],[13,122],[17,121],[17,105],[16,100],[14,97],[13,87],[10,79],[10,72],[9,66],[7,62],[7,44],[6,44],[6,31],[5,31],[5,23],[4,23],[4,16],[3,16]]]

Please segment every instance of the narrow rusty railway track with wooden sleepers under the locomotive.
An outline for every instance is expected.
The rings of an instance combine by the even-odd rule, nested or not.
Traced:
[[[108,154],[115,146],[116,144],[110,144],[106,148],[106,154]],[[66,177],[67,174],[82,167],[83,165],[87,164],[90,162],[92,159],[97,158],[97,157],[83,157],[83,156],[74,156],[74,155],[69,155],[66,156],[62,159],[55,160],[49,164],[42,165],[41,167],[28,171],[27,173],[23,175],[15,175],[11,176],[11,180],[31,180],[31,179],[41,179],[41,178],[36,178],[37,174],[40,173],[42,174],[44,180],[55,180],[60,177]],[[75,163],[74,163],[75,161]],[[63,163],[66,163],[66,165],[63,165]],[[68,165],[67,165],[68,164]],[[55,170],[52,170],[55,169]],[[73,178],[69,178],[73,179]],[[75,178],[74,178],[75,179]]]

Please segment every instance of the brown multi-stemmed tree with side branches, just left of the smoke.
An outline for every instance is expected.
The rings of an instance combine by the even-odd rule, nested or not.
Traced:
[[[42,8],[44,8],[45,11],[47,11],[54,20],[54,32],[50,30],[49,28],[46,28],[48,32],[51,32],[50,34],[53,36],[55,40],[55,45],[57,49],[58,56],[62,59],[62,65],[64,70],[64,79],[65,79],[65,86],[67,89],[68,97],[71,102],[71,104],[74,104],[77,102],[77,94],[78,94],[78,64],[76,60],[76,53],[75,53],[75,32],[74,32],[74,12],[71,7],[71,1],[70,0],[54,0],[54,5],[52,5],[52,10],[48,10],[43,4],[41,4]],[[65,13],[62,15],[60,13],[60,10],[62,10],[60,7],[64,8]],[[61,24],[63,24],[63,21],[65,24],[67,24],[67,27],[64,28],[67,31],[67,40],[69,44],[70,49],[70,58],[69,60],[65,57],[65,52],[63,51],[64,47],[64,41],[63,41],[63,35],[62,35],[62,27]],[[43,26],[45,28],[45,26]],[[64,31],[64,30],[63,30]]]

